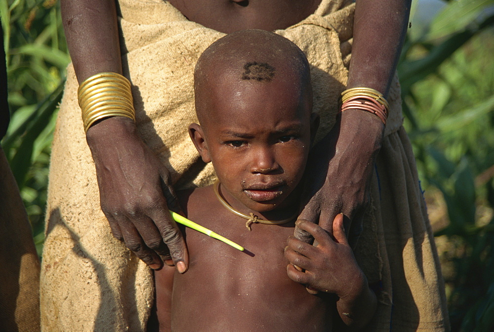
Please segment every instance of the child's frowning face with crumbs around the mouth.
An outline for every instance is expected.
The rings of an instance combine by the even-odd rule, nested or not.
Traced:
[[[290,194],[304,173],[318,118],[311,115],[312,96],[282,78],[223,79],[198,96],[206,98],[199,102],[206,116],[202,126],[189,127],[191,138],[203,160],[212,161],[222,194],[240,210],[237,202],[258,212],[295,203]]]

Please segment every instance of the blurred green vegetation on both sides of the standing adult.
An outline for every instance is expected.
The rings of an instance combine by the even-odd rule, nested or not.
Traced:
[[[439,3],[430,22],[419,8],[435,7],[418,2],[399,65],[405,127],[453,331],[494,331],[493,1]],[[70,59],[55,0],[0,0],[0,13],[12,113],[2,146],[41,254],[50,144]]]

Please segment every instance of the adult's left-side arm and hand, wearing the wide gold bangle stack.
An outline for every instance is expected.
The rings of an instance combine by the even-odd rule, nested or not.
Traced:
[[[115,1],[61,0],[61,9],[79,83],[100,72],[122,74]],[[168,213],[168,206],[179,211],[169,172],[137,135],[134,122],[105,118],[87,130],[86,141],[113,235],[152,268],[171,255],[185,272],[187,248]]]

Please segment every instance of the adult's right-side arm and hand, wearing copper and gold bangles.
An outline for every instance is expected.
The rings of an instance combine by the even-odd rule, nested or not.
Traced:
[[[386,97],[405,38],[410,2],[356,1],[347,88],[372,88]],[[315,157],[308,163],[311,168],[300,219],[319,222],[330,231],[333,218],[342,212],[345,229],[354,220],[350,233],[359,233],[383,133],[383,123],[370,112],[341,113],[331,132],[311,152]],[[298,229],[295,235],[308,240],[308,235]]]

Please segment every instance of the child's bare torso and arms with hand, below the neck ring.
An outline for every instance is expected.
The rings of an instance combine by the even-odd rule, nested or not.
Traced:
[[[331,331],[335,303],[341,319],[347,319],[341,313],[351,312],[359,318],[352,322],[355,326],[367,322],[375,297],[353,258],[341,215],[334,223],[341,227],[339,233],[334,232],[338,241],[316,224],[298,224],[319,240],[318,247],[313,247],[292,236],[293,222],[254,224],[249,232],[246,220],[220,205],[211,187],[189,194],[181,192],[181,198],[188,201],[184,206],[188,218],[245,246],[250,253],[183,229],[189,270],[183,275],[168,266],[155,271],[160,331],[306,331],[307,327]],[[298,263],[307,271],[299,272],[288,263]],[[347,272],[352,274],[343,275]],[[306,285],[321,293],[309,294]]]

